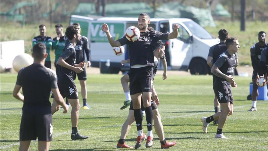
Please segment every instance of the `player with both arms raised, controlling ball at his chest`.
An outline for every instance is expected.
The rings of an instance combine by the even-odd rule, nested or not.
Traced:
[[[178,36],[179,28],[178,24],[173,24],[173,32],[161,33],[159,31],[148,31],[147,28],[149,24],[150,16],[146,13],[139,14],[138,25],[140,37],[137,41],[133,42],[128,41],[125,36],[115,41],[110,34],[108,25],[104,23],[101,26],[102,31],[106,33],[108,41],[112,47],[118,47],[125,44],[129,45],[129,90],[133,102],[134,117],[138,131],[135,149],[139,148],[146,136],[143,134],[142,128],[143,116],[141,110],[141,98],[143,99],[143,106],[146,113],[147,136],[151,136],[151,138],[153,136],[153,110],[151,107],[154,66],[153,50],[155,49],[157,41],[176,38]]]

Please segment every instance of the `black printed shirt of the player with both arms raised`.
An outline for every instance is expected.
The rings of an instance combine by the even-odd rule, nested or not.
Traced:
[[[136,64],[154,66],[153,50],[157,45],[157,41],[168,39],[168,33],[159,31],[141,32],[140,37],[136,41],[129,41],[125,36],[117,41],[121,45],[129,45],[130,67]]]

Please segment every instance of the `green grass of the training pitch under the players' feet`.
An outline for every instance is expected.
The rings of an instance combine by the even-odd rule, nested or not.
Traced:
[[[12,97],[16,74],[0,74],[0,150],[18,150],[19,125],[23,103]],[[121,75],[88,75],[87,100],[91,110],[80,110],[78,129],[90,138],[84,141],[71,141],[70,111],[62,110],[53,115],[53,151],[98,151],[129,150],[116,149],[121,126],[128,109],[120,110],[125,95]],[[257,112],[247,112],[251,101],[249,77],[235,77],[238,88],[233,88],[234,113],[227,119],[224,134],[228,140],[215,139],[217,126],[211,124],[208,133],[201,129],[200,118],[214,113],[211,76],[175,76],[167,80],[156,76],[154,85],[160,99],[160,111],[167,141],[177,141],[177,145],[168,149],[178,150],[268,150],[268,101],[258,101]],[[76,81],[78,84],[78,81]],[[80,91],[79,84],[77,85]],[[82,103],[82,101],[80,100]],[[80,103],[80,104],[81,104]],[[146,122],[143,119],[143,124]],[[146,127],[144,126],[146,132]],[[154,131],[154,130],[153,130]],[[139,149],[160,150],[160,142],[155,133],[154,145],[147,149],[145,142]],[[132,126],[126,143],[136,143],[136,126]],[[30,150],[37,150],[37,142],[32,141]]]

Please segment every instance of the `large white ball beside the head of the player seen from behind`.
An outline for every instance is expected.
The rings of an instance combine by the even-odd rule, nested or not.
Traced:
[[[23,53],[23,54],[16,56],[12,63],[13,68],[17,72],[19,72],[21,68],[30,66],[31,64],[33,64],[33,58],[27,53]]]

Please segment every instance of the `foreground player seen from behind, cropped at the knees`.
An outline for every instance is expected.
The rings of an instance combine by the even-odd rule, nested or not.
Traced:
[[[38,150],[49,150],[53,131],[50,91],[55,94],[55,101],[63,106],[63,113],[69,109],[58,90],[55,71],[44,66],[46,51],[44,43],[33,46],[33,64],[19,71],[13,90],[13,96],[23,101],[19,151],[28,151],[31,140],[36,138]],[[23,95],[19,92],[21,87]]]

